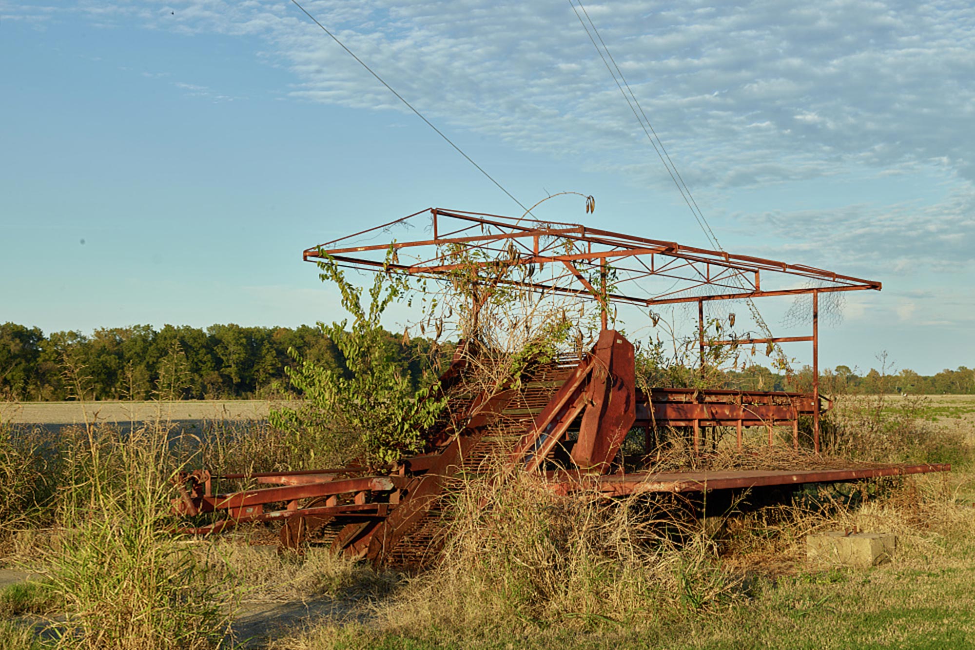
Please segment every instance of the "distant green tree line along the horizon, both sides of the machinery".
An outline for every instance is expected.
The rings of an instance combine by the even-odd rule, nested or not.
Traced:
[[[383,333],[381,362],[417,388],[424,373],[449,359],[452,345]],[[90,336],[52,332],[16,323],[0,325],[0,399],[54,401],[75,399],[228,399],[262,397],[293,390],[286,367],[301,359],[348,372],[345,359],[322,327],[207,328],[150,325],[102,328]],[[723,373],[723,384],[742,390],[808,390],[812,370],[791,375],[761,365]],[[973,394],[975,370],[960,366],[936,375],[910,369],[887,373],[872,368],[858,374],[848,366],[820,373],[823,392]]]

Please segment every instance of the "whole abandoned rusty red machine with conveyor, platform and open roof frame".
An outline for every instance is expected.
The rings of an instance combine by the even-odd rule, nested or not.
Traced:
[[[800,447],[800,417],[813,422],[810,446],[819,452],[819,417],[829,400],[811,393],[702,390],[636,385],[634,346],[606,327],[609,303],[644,306],[811,294],[813,330],[809,337],[744,339],[740,343],[804,341],[812,343],[814,377],[818,371],[816,298],[819,293],[879,290],[871,280],[830,271],[685,247],[642,237],[567,223],[541,223],[497,216],[431,209],[432,237],[394,242],[394,250],[418,255],[413,264],[385,259],[390,244],[347,245],[353,239],[384,233],[390,224],[304,252],[306,260],[329,255],[339,264],[370,270],[444,277],[449,264],[437,255],[444,245],[475,247],[489,264],[502,256],[509,265],[548,264],[559,269],[544,280],[520,282],[521,288],[547,294],[589,296],[600,302],[603,330],[596,344],[575,358],[539,364],[518,386],[487,390],[468,382],[469,354],[455,354],[441,378],[448,395],[448,418],[426,431],[424,453],[380,471],[336,467],[313,471],[212,476],[205,470],[179,477],[175,507],[209,523],[185,532],[214,533],[249,521],[280,520],[281,543],[297,548],[315,530],[328,531],[331,548],[367,557],[377,564],[424,565],[443,542],[444,496],[462,477],[498,465],[544,475],[551,488],[567,494],[586,486],[607,497],[643,492],[703,492],[767,485],[859,480],[875,476],[945,471],[947,465],[859,466],[806,470],[725,470],[654,472],[649,469],[651,432],[675,427],[686,431],[693,454],[702,454],[702,430],[735,427],[736,448],[742,430],[763,427],[774,444],[774,427],[791,427],[792,445]],[[395,223],[402,223],[399,220]],[[402,257],[400,258],[402,259]],[[605,278],[611,286],[589,278]],[[595,272],[594,272],[595,271]],[[602,273],[602,275],[601,275]],[[769,282],[766,276],[776,276]],[[783,277],[784,276],[784,280]],[[665,277],[671,288],[655,292],[647,280]],[[812,286],[808,285],[813,280]],[[502,279],[502,281],[504,281]],[[796,286],[796,282],[800,286]],[[790,284],[792,282],[793,284]],[[769,286],[771,285],[771,286]],[[703,315],[700,316],[703,326]],[[726,342],[723,342],[726,343]],[[703,339],[702,339],[703,350]],[[702,359],[703,359],[702,353]],[[627,467],[621,449],[627,433],[643,428],[644,464]],[[259,487],[216,493],[215,479],[254,479]],[[209,513],[209,514],[208,514]]]

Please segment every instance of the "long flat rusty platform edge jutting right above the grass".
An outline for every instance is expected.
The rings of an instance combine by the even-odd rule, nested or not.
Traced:
[[[594,487],[608,497],[626,497],[647,492],[707,492],[731,488],[770,485],[833,483],[879,476],[903,476],[934,471],[951,471],[948,464],[859,467],[813,470],[732,470],[714,472],[635,472],[631,474],[587,476],[579,471],[551,471],[549,485],[560,494]]]

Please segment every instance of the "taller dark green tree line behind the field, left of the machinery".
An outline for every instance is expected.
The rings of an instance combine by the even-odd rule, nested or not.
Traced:
[[[305,359],[343,370],[341,352],[318,327],[206,329],[150,325],[53,332],[0,325],[0,400],[247,398],[287,390],[285,367]],[[452,351],[425,339],[388,335],[387,362],[418,385]],[[448,357],[449,358],[449,357]]]

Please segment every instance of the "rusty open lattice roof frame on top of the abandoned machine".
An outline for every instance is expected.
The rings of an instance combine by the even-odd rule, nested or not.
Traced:
[[[382,237],[400,231],[414,234],[417,226],[423,227],[426,237],[392,243]],[[387,259],[391,249],[394,254]],[[456,257],[458,250],[465,252],[463,261]],[[305,261],[325,256],[341,266],[435,279],[446,279],[462,267],[480,266],[495,276],[499,267],[519,267],[520,274],[496,281],[542,294],[588,294],[601,302],[643,307],[879,291],[881,286],[875,280],[804,264],[683,246],[578,223],[441,208],[422,210],[304,251]]]

